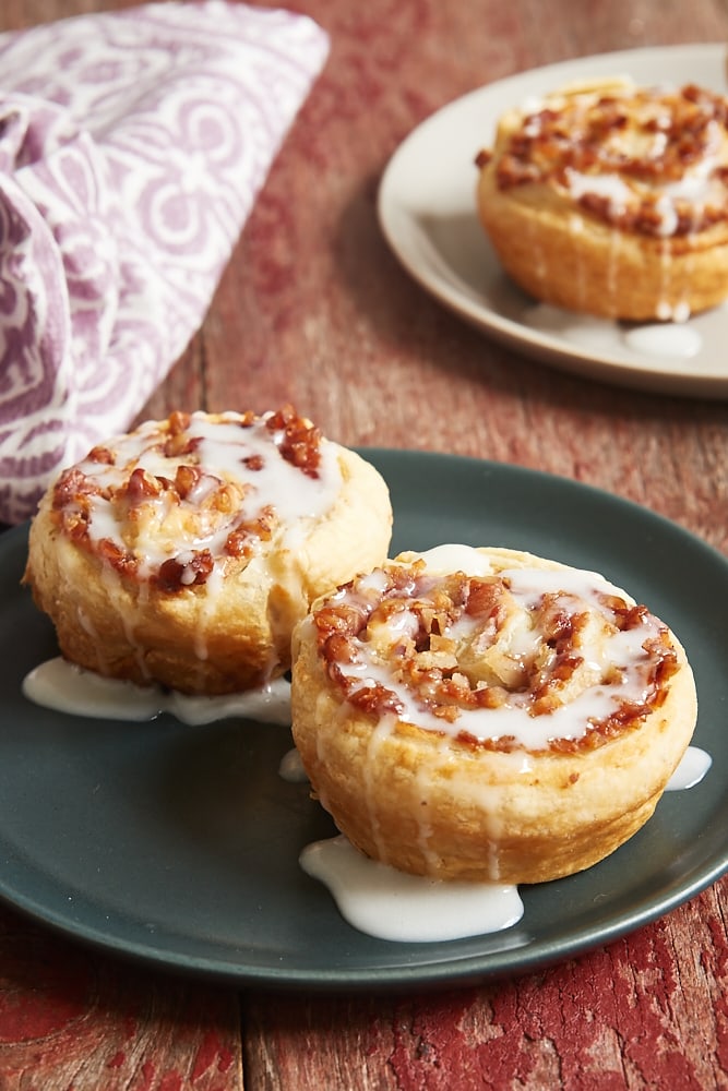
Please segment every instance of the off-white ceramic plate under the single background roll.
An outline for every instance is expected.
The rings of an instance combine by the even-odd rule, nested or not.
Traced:
[[[726,92],[724,45],[584,57],[492,83],[428,118],[399,146],[379,193],[382,230],[432,296],[488,335],[562,370],[663,394],[728,397],[728,307],[682,325],[635,327],[538,305],[503,273],[475,203],[475,156],[509,107],[572,80],[630,75]],[[643,341],[640,347],[640,341]]]

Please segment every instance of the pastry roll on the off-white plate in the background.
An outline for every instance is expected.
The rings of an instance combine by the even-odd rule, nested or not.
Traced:
[[[504,115],[476,159],[482,226],[535,299],[684,320],[728,297],[728,99],[573,85]]]

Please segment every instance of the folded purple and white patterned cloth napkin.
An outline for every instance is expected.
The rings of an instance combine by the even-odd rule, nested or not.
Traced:
[[[183,351],[327,50],[224,0],[0,35],[0,521]]]

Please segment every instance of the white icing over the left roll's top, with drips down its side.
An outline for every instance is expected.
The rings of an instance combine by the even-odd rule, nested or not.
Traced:
[[[150,681],[145,623],[151,582],[164,574],[162,594],[190,599],[190,650],[204,673],[226,576],[262,563],[268,553],[295,556],[301,536],[334,506],[342,484],[341,448],[311,434],[309,422],[299,418],[272,412],[177,417],[146,421],[95,447],[61,476],[56,495],[61,527],[73,533],[83,527],[84,548],[104,562],[100,578],[109,602],[118,602],[120,584],[129,590],[114,612],[141,678]],[[307,454],[318,456],[312,472],[286,457],[287,428],[310,440]],[[68,566],[73,553],[59,550],[58,556]],[[198,577],[204,588],[190,591]],[[67,582],[73,586],[71,572]],[[87,619],[80,618],[80,624],[88,632]],[[100,644],[98,657],[103,671]],[[267,673],[276,667],[272,647]]]

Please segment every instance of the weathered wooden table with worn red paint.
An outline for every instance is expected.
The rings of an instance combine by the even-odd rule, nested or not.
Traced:
[[[121,7],[3,0],[0,29]],[[343,443],[575,478],[727,551],[728,405],[600,385],[499,347],[410,280],[375,219],[387,158],[438,107],[580,55],[727,40],[725,0],[290,7],[330,32],[329,64],[201,331],[140,416],[290,399]],[[170,978],[3,909],[0,1088],[726,1088],[727,914],[724,879],[628,938],[520,980],[327,997]]]

